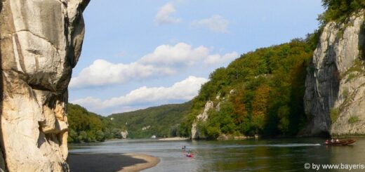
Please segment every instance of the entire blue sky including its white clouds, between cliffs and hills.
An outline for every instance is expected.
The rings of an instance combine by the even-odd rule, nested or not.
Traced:
[[[69,101],[108,115],[186,102],[242,53],[317,29],[320,0],[91,1]]]

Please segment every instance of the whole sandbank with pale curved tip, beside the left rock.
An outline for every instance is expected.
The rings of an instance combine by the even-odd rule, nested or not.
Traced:
[[[141,171],[159,164],[160,159],[147,154],[69,154],[70,171]]]

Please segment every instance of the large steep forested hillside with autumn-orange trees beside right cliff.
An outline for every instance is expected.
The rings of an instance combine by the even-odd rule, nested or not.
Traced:
[[[306,69],[318,34],[288,44],[259,48],[241,55],[226,68],[211,73],[192,113],[180,126],[190,135],[192,122],[205,103],[212,100],[220,110],[210,110],[198,129],[204,138],[228,135],[294,135],[306,123],[303,109]],[[217,99],[217,96],[220,97]]]

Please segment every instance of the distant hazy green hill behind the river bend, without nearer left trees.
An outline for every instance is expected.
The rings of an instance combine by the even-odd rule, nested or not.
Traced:
[[[128,138],[173,137],[180,135],[178,128],[181,121],[190,113],[192,103],[161,105],[145,110],[112,114],[114,126],[128,131]]]

